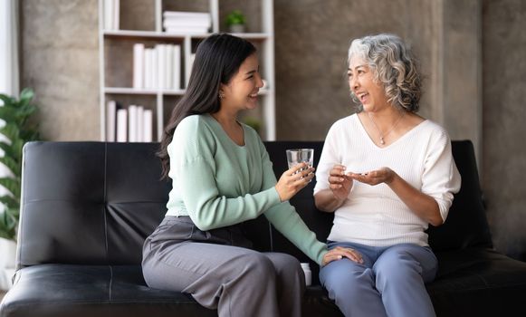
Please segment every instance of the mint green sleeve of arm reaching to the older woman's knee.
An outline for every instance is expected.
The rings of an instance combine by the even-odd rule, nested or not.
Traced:
[[[277,180],[273,172],[273,163],[269,159],[269,155],[261,141],[260,146],[263,148],[263,188],[274,187]],[[312,261],[321,265],[323,255],[328,251],[327,245],[318,241],[316,235],[305,225],[296,212],[296,209],[292,207],[288,201],[282,202],[265,211],[264,216],[266,216],[282,235],[289,239],[292,244],[296,245],[301,252],[309,256]]]

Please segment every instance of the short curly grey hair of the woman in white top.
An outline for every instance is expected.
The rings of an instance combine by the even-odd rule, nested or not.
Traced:
[[[387,101],[400,110],[418,111],[422,76],[411,49],[393,34],[365,36],[350,43],[347,62],[359,56],[368,62],[376,82],[383,84]],[[353,101],[358,98],[351,91]],[[359,110],[362,106],[359,104]]]

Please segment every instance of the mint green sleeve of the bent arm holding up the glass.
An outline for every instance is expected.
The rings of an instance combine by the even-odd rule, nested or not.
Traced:
[[[199,229],[238,224],[280,203],[274,187],[240,197],[220,195],[216,182],[221,180],[215,179],[215,160],[228,158],[218,157],[214,132],[209,127],[196,118],[186,119],[179,123],[168,146],[169,176],[177,183],[186,212]]]

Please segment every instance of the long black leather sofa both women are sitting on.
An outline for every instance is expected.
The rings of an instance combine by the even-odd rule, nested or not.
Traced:
[[[274,171],[286,168],[285,149],[322,142],[267,142]],[[23,207],[17,271],[0,306],[14,316],[215,316],[184,293],[150,289],[141,245],[165,213],[170,184],[159,181],[157,144],[33,142],[24,148]],[[526,263],[492,249],[473,146],[453,142],[461,191],[444,226],[429,229],[439,259],[427,285],[438,316],[526,316]],[[188,184],[192,186],[192,184]],[[292,199],[324,240],[332,215],[316,210],[311,185]],[[511,185],[510,185],[511,186]],[[505,208],[503,206],[502,208]],[[254,246],[308,261],[264,217],[245,223]],[[320,287],[304,295],[304,316],[340,316]],[[254,285],[257,287],[257,285]]]

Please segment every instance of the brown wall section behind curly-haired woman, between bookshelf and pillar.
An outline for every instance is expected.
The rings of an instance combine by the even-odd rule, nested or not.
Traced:
[[[421,57],[426,82],[433,82],[436,11],[433,2],[421,0],[276,0],[278,139],[324,139],[332,122],[354,111],[346,76],[354,38],[381,32],[406,38]],[[427,114],[430,96],[423,101]]]

